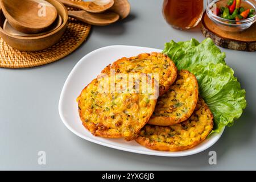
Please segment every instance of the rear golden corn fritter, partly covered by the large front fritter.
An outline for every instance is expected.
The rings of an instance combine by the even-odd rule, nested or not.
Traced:
[[[159,96],[162,96],[177,77],[174,62],[163,53],[142,53],[135,57],[123,57],[111,67],[116,73],[157,73],[159,76]]]

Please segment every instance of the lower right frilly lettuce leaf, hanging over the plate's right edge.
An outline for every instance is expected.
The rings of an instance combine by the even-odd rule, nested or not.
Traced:
[[[191,71],[199,82],[200,96],[214,115],[212,133],[220,133],[223,126],[232,126],[246,107],[245,90],[234,77],[233,69],[223,64],[199,65]]]

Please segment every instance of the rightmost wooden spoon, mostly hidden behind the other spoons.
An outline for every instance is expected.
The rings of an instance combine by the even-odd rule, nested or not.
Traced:
[[[114,6],[110,10],[117,13],[120,19],[125,19],[130,14],[131,6],[127,0],[115,0]]]

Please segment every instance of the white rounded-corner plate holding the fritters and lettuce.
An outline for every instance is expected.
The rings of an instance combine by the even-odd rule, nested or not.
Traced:
[[[76,98],[80,95],[81,90],[90,83],[97,75],[100,74],[102,69],[107,65],[113,63],[115,60],[121,57],[137,56],[140,53],[162,52],[160,49],[147,48],[147,47],[135,47],[135,46],[108,46],[97,49],[84,56],[79,63],[73,68],[65,81],[63,90],[60,95],[59,101],[59,114],[60,118],[77,136],[84,138],[90,142],[101,144],[115,148],[118,150],[134,152],[138,154],[146,155],[158,155],[158,156],[187,156],[196,154],[203,150],[206,150],[212,146],[221,137],[220,134],[214,134],[203,143],[186,151],[179,152],[164,152],[154,151],[143,146],[140,146],[135,141],[126,142],[123,138],[120,139],[108,139],[101,137],[94,137],[89,131],[87,131],[79,117]]]

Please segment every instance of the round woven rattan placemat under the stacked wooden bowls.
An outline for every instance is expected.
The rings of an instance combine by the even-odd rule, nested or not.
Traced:
[[[81,1],[81,0],[71,0]],[[87,38],[90,25],[69,19],[68,28],[60,41],[43,51],[24,52],[11,48],[0,39],[0,67],[31,68],[52,63],[75,51]]]

